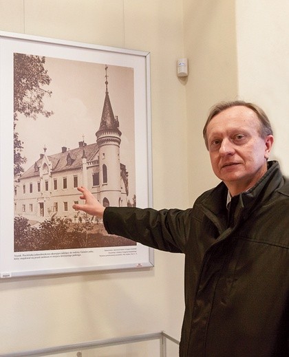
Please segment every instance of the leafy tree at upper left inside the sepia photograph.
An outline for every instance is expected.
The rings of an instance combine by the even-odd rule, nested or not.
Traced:
[[[26,159],[22,156],[23,142],[15,131],[18,114],[36,120],[39,114],[49,118],[53,111],[44,109],[43,97],[51,96],[45,89],[51,78],[44,68],[45,57],[28,54],[14,54],[14,176],[23,172]]]

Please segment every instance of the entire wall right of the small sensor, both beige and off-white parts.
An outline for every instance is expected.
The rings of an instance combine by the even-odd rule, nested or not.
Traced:
[[[218,180],[202,129],[220,100],[256,102],[275,132],[272,160],[289,173],[289,3],[278,0],[184,0],[189,202]]]

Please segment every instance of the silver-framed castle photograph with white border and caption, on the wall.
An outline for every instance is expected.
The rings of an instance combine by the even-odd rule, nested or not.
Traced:
[[[153,266],[72,208],[152,205],[149,52],[0,32],[1,278]]]

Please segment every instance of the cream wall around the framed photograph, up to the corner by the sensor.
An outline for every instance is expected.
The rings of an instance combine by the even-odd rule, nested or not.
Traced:
[[[0,30],[151,52],[153,205],[188,206],[180,1],[0,0]],[[179,338],[183,257],[156,252],[155,264],[1,280],[0,354],[161,330]]]

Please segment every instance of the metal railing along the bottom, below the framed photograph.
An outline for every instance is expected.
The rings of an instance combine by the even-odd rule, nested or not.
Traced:
[[[153,334],[143,334],[136,336],[126,336],[120,338],[108,338],[106,340],[93,340],[89,342],[76,343],[73,345],[63,345],[57,347],[47,347],[43,349],[34,349],[31,351],[12,352],[10,354],[0,354],[0,357],[38,357],[38,356],[52,356],[54,354],[61,354],[65,352],[78,351],[78,356],[81,356],[83,349],[95,349],[99,347],[109,347],[116,345],[125,345],[127,343],[137,343],[149,340],[160,340],[160,357],[167,356],[167,340],[179,345],[179,341],[169,336],[165,332],[156,332]]]

